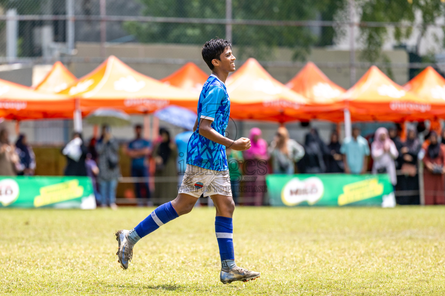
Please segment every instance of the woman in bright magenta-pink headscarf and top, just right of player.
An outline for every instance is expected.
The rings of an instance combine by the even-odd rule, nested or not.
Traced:
[[[247,190],[244,193],[244,205],[263,205],[264,190],[266,188],[265,175],[267,174],[267,142],[261,138],[261,130],[254,127],[250,130],[249,139],[251,140],[251,147],[244,153],[244,174],[249,177],[245,182],[247,187],[252,190]]]

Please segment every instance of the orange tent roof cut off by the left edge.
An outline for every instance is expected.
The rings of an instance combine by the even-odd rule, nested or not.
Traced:
[[[44,94],[0,79],[0,117],[7,119],[73,118],[74,100]]]

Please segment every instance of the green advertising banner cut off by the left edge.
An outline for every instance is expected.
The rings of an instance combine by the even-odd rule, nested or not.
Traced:
[[[89,177],[0,176],[0,208],[95,209]]]

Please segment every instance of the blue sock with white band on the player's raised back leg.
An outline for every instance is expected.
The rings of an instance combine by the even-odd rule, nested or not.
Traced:
[[[154,232],[156,229],[159,228],[159,226],[162,226],[168,221],[172,221],[174,218],[178,217],[178,213],[176,213],[173,205],[171,205],[171,201],[160,205],[134,228],[134,237],[130,237],[129,235],[129,239],[136,243],[142,237],[145,237],[147,234]]]

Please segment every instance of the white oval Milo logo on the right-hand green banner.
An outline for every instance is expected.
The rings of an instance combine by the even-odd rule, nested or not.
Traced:
[[[318,177],[310,177],[304,180],[292,178],[281,190],[281,201],[285,205],[294,206],[303,201],[314,205],[324,193],[323,182]]]

